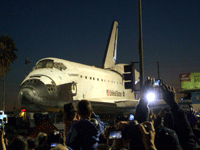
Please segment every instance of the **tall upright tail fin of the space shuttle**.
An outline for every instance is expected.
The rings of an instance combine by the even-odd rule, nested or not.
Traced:
[[[107,49],[104,54],[103,68],[111,68],[115,65],[117,59],[117,38],[118,38],[118,22],[113,21],[110,37],[107,43]]]

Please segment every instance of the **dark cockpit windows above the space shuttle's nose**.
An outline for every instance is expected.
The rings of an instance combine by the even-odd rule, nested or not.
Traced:
[[[41,60],[33,67],[33,70],[42,68],[56,68],[61,71],[67,69],[67,67],[63,63],[54,62],[51,59]]]

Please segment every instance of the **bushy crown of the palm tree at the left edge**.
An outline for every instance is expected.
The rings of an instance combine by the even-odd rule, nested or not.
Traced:
[[[10,65],[17,59],[15,51],[17,48],[12,38],[2,34],[0,37],[0,79],[9,72]]]

